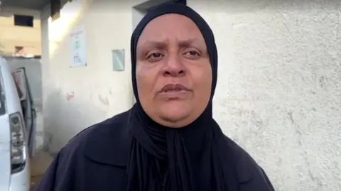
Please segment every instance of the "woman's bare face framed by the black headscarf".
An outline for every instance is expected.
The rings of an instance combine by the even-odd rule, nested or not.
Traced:
[[[158,124],[180,128],[210,100],[212,68],[195,23],[169,13],[149,22],[136,50],[136,84],[144,111]]]

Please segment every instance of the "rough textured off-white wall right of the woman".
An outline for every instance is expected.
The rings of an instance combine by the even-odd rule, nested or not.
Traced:
[[[215,2],[189,5],[217,38],[224,132],[277,190],[341,190],[340,1]]]

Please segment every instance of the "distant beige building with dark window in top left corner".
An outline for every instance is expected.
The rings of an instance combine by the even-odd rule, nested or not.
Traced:
[[[40,55],[39,11],[4,7],[0,11],[0,55]]]

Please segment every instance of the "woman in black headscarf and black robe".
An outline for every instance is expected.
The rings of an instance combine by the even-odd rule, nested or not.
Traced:
[[[255,161],[212,119],[217,48],[195,11],[166,4],[131,37],[137,103],[62,148],[38,191],[270,191]]]

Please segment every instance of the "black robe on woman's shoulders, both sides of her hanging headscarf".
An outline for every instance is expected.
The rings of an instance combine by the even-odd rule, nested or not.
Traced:
[[[37,191],[125,191],[131,146],[130,111],[90,126],[72,138],[54,158]],[[247,152],[225,136],[216,143],[222,168],[236,172],[239,191],[273,191],[269,178]],[[232,162],[233,161],[233,162]],[[207,190],[208,191],[208,190]]]

